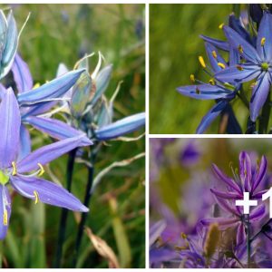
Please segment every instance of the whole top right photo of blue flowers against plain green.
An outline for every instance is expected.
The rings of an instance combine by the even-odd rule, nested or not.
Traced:
[[[272,132],[272,5],[150,5],[150,133]]]

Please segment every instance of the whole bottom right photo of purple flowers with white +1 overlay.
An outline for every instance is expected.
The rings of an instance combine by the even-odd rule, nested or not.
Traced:
[[[151,138],[150,267],[272,267],[271,186],[271,139]]]

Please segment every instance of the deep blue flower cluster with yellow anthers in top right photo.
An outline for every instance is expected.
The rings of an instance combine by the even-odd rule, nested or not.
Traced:
[[[202,56],[199,56],[199,63],[209,74],[209,83],[202,83],[191,74],[191,81],[199,84],[178,88],[181,94],[194,99],[216,101],[200,122],[197,133],[205,132],[209,124],[220,114],[228,117],[225,131],[242,133],[231,106],[231,102],[237,99],[241,99],[249,109],[247,132],[266,133],[268,130],[269,114],[265,109],[270,107],[268,93],[272,67],[272,15],[266,5],[262,7],[249,5],[249,7],[249,19],[246,23],[245,20],[232,14],[229,15],[228,25],[219,25],[227,41],[201,35],[205,41],[210,67]],[[254,29],[255,32],[251,34],[250,29]],[[228,61],[220,55],[218,50],[228,53]],[[250,102],[248,102],[243,84],[248,82],[251,83]],[[258,128],[257,120],[259,120]]]

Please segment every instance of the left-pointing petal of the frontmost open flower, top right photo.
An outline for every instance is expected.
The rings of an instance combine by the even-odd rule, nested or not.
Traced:
[[[243,70],[238,69],[242,67]],[[230,66],[218,73],[215,73],[215,78],[224,83],[247,83],[253,79],[256,79],[261,73],[260,68],[257,65],[234,65]]]

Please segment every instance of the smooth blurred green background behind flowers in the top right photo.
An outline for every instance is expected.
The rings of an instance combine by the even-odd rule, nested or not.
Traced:
[[[214,102],[190,99],[176,88],[189,85],[191,73],[201,81],[209,80],[198,61],[199,55],[207,60],[199,34],[225,39],[219,24],[228,24],[232,10],[233,5],[220,4],[150,5],[151,133],[195,133]],[[233,107],[244,131],[248,110],[239,101]],[[219,118],[207,133],[217,133],[218,127]]]

